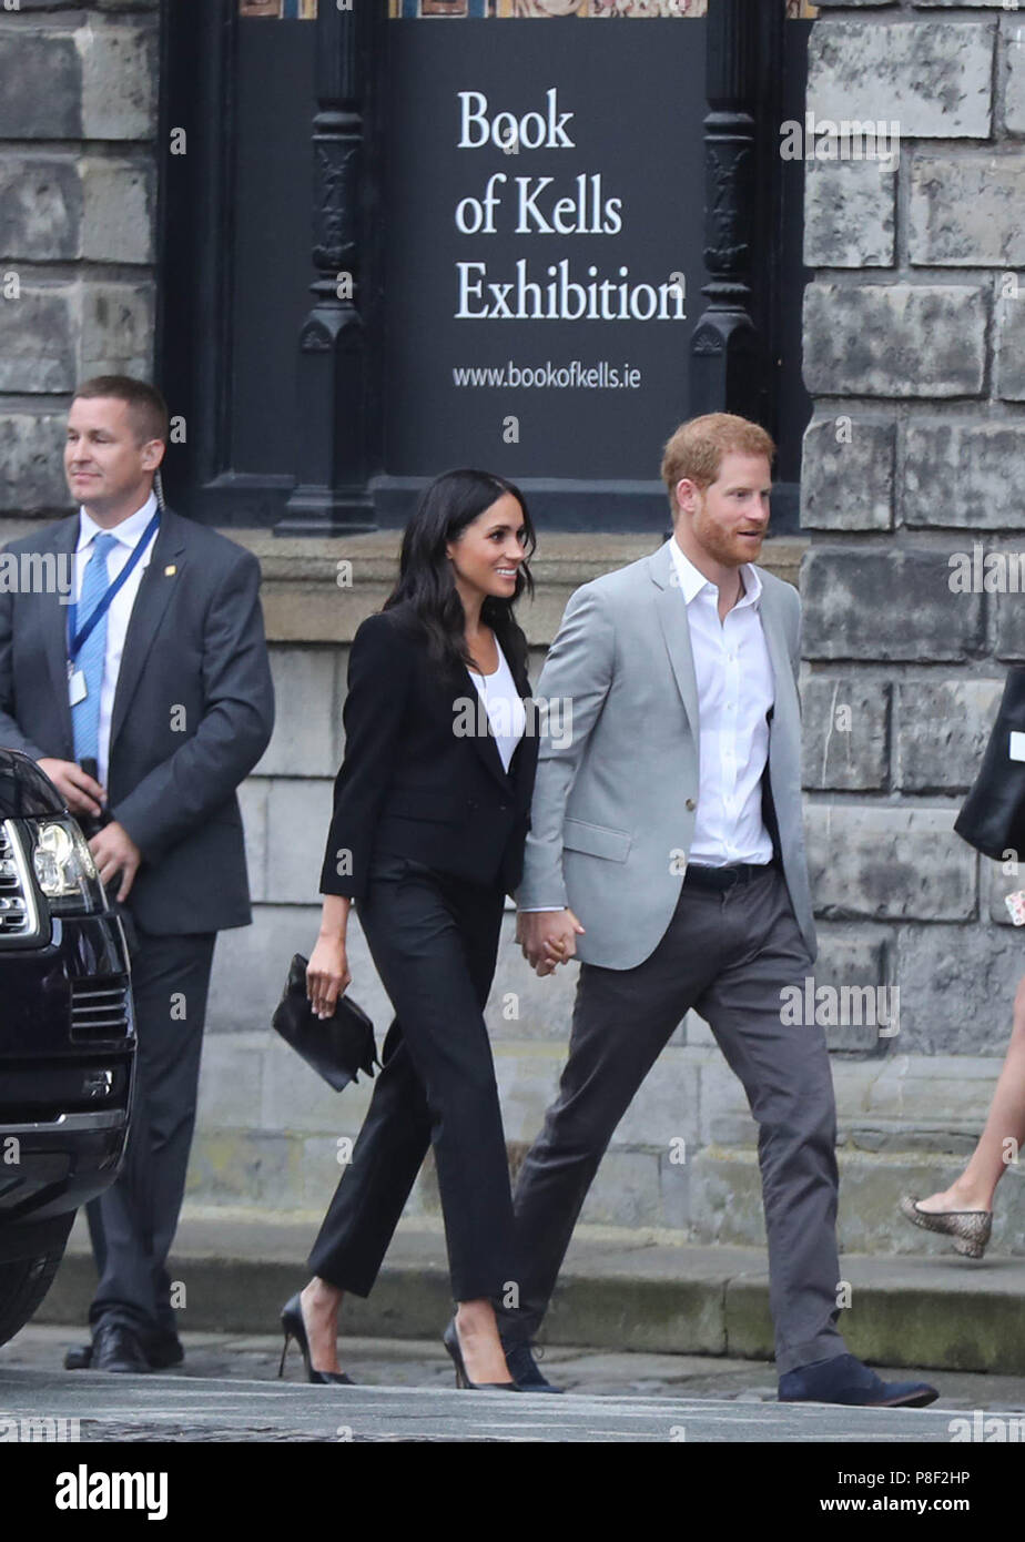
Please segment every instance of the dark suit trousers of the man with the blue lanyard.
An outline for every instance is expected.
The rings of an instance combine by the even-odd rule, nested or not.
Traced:
[[[100,1275],[89,1323],[122,1321],[151,1340],[176,1332],[165,1266],[196,1126],[216,933],[134,930],[136,1101],[120,1175],[86,1206]]]

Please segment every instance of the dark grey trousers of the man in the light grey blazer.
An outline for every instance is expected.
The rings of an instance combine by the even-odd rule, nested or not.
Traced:
[[[655,951],[630,970],[581,964],[569,1061],[515,1192],[519,1311],[507,1342],[544,1317],[576,1217],[612,1133],[694,1007],[743,1082],[758,1123],[769,1303],[780,1374],[845,1354],[837,1320],[837,1161],[822,1027],[788,1025],[781,990],[812,961],[783,874],[724,893],[680,891]]]

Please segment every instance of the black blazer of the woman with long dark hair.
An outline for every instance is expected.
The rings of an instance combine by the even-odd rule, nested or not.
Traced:
[[[530,682],[510,658],[516,689]],[[368,617],[348,657],[345,759],[334,782],[322,894],[367,891],[375,853],[424,862],[470,884],[512,894],[519,882],[538,760],[527,732],[509,774],[490,734],[453,731],[459,703],[476,715],[478,691],[465,668],[439,675],[408,604]],[[482,717],[487,725],[487,719]]]

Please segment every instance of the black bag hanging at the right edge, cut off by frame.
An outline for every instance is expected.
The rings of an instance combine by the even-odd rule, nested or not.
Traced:
[[[954,830],[996,862],[1025,857],[1025,669],[1011,669],[974,786]]]

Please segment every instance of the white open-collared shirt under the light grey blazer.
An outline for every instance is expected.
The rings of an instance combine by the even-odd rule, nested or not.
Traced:
[[[698,685],[698,808],[687,860],[703,867],[771,862],[761,776],[769,759],[766,714],[775,700],[775,682],[758,615],[761,580],[744,563],[744,594],[720,621],[717,586],[698,572],[675,537],[669,544]]]

